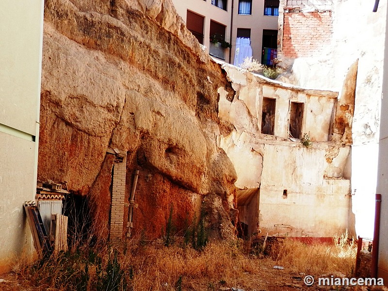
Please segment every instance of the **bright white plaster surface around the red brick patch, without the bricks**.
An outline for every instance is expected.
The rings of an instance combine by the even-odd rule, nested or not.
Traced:
[[[331,8],[326,7],[332,12],[331,37],[322,43],[326,49],[314,57],[296,59],[282,53],[286,49],[282,42],[286,30],[283,7],[300,3],[280,2],[278,58],[282,59],[288,73],[279,80],[341,92],[348,68],[358,63],[352,120],[352,193],[356,193],[352,211],[357,216],[357,235],[372,237],[387,0],[379,1],[376,13],[372,12],[374,1],[333,1]],[[302,8],[316,8],[318,13],[325,13],[320,7]],[[312,13],[308,9],[303,12],[305,15]],[[306,32],[298,34],[303,36]],[[319,39],[315,41],[320,42]]]

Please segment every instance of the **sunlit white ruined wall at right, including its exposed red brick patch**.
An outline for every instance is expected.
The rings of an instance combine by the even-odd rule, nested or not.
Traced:
[[[278,35],[278,58],[286,70],[280,81],[341,92],[349,67],[357,65],[351,211],[356,234],[367,238],[373,235],[387,1],[379,1],[377,12],[373,6],[362,0],[281,0]]]

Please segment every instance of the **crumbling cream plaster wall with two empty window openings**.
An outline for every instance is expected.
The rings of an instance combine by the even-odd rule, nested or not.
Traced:
[[[346,228],[353,231],[351,141],[330,134],[341,115],[336,114],[338,93],[269,81],[226,64],[223,68],[236,94],[218,90],[219,116],[234,126],[220,137],[220,146],[235,166],[236,186],[260,188],[260,229],[271,235],[316,237],[331,237]],[[276,99],[275,135],[261,133],[263,97]],[[309,134],[310,148],[289,139],[290,101],[305,104],[302,132]]]

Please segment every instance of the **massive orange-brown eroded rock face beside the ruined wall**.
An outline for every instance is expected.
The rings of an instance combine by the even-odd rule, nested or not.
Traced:
[[[169,0],[47,0],[38,179],[86,195],[106,238],[114,156],[140,170],[133,230],[161,235],[205,210],[213,237],[233,235],[236,173],[216,145],[225,72],[202,51]],[[111,151],[112,152],[112,151]],[[230,211],[232,210],[232,211]]]

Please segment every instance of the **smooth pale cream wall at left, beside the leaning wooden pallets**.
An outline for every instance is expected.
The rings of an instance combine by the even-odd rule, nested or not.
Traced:
[[[43,1],[0,10],[0,272],[32,253],[23,203],[36,192]]]

